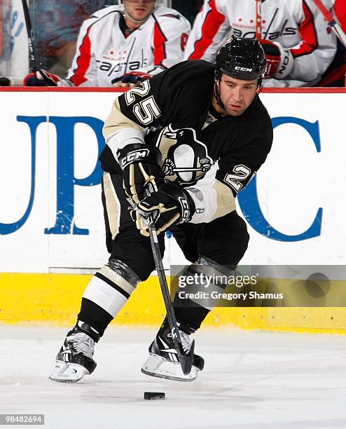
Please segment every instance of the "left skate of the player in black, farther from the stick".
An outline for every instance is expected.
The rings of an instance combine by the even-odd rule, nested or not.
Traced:
[[[97,332],[84,322],[78,324],[67,333],[55,359],[56,364],[49,378],[62,383],[76,383],[87,374],[91,374],[96,368],[96,362],[92,359],[95,340],[99,339]]]

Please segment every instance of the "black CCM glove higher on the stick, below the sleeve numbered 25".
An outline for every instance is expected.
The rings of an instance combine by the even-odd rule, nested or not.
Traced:
[[[117,156],[123,170],[124,191],[134,204],[144,198],[144,187],[148,183],[157,191],[158,185],[164,182],[160,167],[162,156],[155,147],[140,143],[127,144],[118,150]]]

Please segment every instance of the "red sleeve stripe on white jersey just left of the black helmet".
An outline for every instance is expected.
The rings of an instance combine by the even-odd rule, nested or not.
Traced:
[[[214,36],[219,32],[219,28],[225,22],[225,15],[216,9],[216,1],[210,0],[209,6],[212,8],[205,17],[202,24],[202,36],[195,41],[193,53],[188,57],[189,60],[199,60],[213,43]]]

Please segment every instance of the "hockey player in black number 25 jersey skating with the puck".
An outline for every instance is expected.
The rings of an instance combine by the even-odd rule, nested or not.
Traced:
[[[155,268],[148,230],[138,212],[155,214],[162,254],[162,232],[172,231],[193,263],[191,272],[223,272],[242,259],[249,235],[235,210],[235,197],[272,144],[270,117],[258,97],[265,67],[258,41],[233,36],[219,50],[216,65],[181,62],[114,101],[100,156],[111,257],[90,280],[76,326],[57,353],[50,379],[73,382],[94,371],[95,342]],[[149,182],[155,192],[144,198]],[[136,223],[129,198],[137,205]],[[185,350],[190,350],[190,335],[209,310],[175,308]],[[191,373],[184,376],[165,319],[142,372],[191,381],[203,365],[202,357],[195,355]]]

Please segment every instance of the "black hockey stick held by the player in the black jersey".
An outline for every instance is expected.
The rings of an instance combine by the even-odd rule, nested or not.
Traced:
[[[153,192],[153,186],[148,184],[146,186],[146,196],[150,196]],[[130,201],[130,198],[127,198]],[[162,257],[160,252],[160,246],[158,244],[158,235],[156,233],[155,221],[153,214],[148,214],[144,219],[144,214],[141,214],[142,222],[146,223],[148,226],[149,237],[151,241],[151,249],[153,250],[153,258],[155,261],[156,271],[158,272],[158,280],[160,282],[161,292],[163,301],[165,302],[165,308],[167,312],[167,320],[169,323],[169,328],[171,329],[172,339],[174,341],[174,348],[177,350],[178,360],[181,365],[181,370],[184,375],[188,375],[191,372],[193,365],[193,352],[195,350],[195,340],[191,343],[191,348],[186,353],[181,344],[181,338],[179,334],[179,329],[177,326],[177,319],[175,318],[174,309],[169,295],[169,289],[167,285],[167,279],[165,275],[165,268],[163,268]]]

